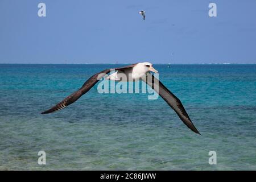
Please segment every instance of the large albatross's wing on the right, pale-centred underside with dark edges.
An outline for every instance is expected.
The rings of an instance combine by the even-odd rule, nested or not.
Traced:
[[[146,79],[147,80],[143,81],[150,85],[151,88],[154,89],[159,94],[159,96],[161,96],[163,100],[166,101],[167,104],[175,110],[177,115],[179,115],[181,121],[183,121],[183,123],[187,125],[189,129],[191,129],[197,134],[200,134],[196,127],[193,125],[179,98],[177,98],[173,93],[171,93],[171,91],[168,90],[166,86],[164,86],[162,82],[155,78],[154,75],[152,75],[151,73],[148,73]]]

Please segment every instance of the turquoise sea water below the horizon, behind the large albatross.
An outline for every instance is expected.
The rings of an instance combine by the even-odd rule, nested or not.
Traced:
[[[40,114],[113,66],[122,65],[0,64],[0,169],[256,170],[256,65],[154,66],[201,136],[160,97],[99,94],[97,86]]]

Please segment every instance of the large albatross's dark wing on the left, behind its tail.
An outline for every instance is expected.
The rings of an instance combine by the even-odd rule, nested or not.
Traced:
[[[125,68],[132,68],[132,67],[134,67],[134,65],[136,65],[136,64],[128,65],[128,66],[122,67],[122,68],[115,68],[115,70],[122,70],[122,69],[125,69]],[[53,113],[55,111],[64,109],[68,105],[71,105],[73,102],[77,101],[83,94],[88,92],[104,76],[104,75],[102,75],[102,76],[98,77],[101,73],[108,74],[110,71],[111,71],[111,69],[105,69],[104,71],[102,71],[100,73],[96,73],[95,75],[90,77],[84,83],[84,85],[82,85],[82,87],[79,90],[72,93],[68,97],[64,98],[63,101],[59,102],[57,105],[53,106],[51,109],[49,109],[47,111],[44,111],[41,114]]]

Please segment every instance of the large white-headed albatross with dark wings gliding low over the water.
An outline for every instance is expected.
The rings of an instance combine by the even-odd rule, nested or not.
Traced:
[[[146,82],[149,86],[151,86],[152,89],[155,90],[155,92],[159,94],[159,96],[163,98],[164,101],[167,102],[169,106],[172,107],[172,109],[175,110],[181,121],[183,121],[183,123],[187,125],[189,129],[197,134],[200,134],[196,127],[193,125],[179,98],[177,98],[170,90],[166,88],[166,86],[162,84],[162,82],[157,80],[157,78],[155,78],[154,75],[150,73],[158,73],[158,71],[156,71],[152,67],[151,63],[144,62],[131,64],[126,67],[115,68],[114,70],[117,72],[114,72],[113,74],[107,76],[107,79],[120,81],[118,79],[118,74],[122,73],[122,75],[130,74],[130,76],[127,77],[130,80],[127,81],[142,80]],[[53,106],[49,110],[44,111],[42,114],[53,113],[67,107],[68,105],[71,105],[73,102],[77,101],[82,95],[88,92],[98,82],[98,80],[101,80],[101,78],[104,77],[104,75],[106,76],[106,74],[110,73],[110,71],[112,71],[112,69],[105,69],[104,71],[96,73],[95,75],[90,77],[79,90],[64,98],[64,100],[59,102],[59,104]],[[148,76],[151,76],[152,79],[148,79]]]

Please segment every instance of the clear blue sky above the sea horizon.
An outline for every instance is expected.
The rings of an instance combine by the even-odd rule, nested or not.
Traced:
[[[38,16],[40,2],[46,17]],[[210,2],[217,17],[208,15]],[[1,0],[0,63],[255,64],[255,7],[254,0]]]

